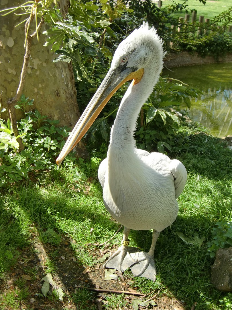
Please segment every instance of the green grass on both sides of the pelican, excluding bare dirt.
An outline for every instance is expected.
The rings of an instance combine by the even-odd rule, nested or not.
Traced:
[[[190,133],[190,150],[178,155],[188,172],[187,184],[178,198],[179,215],[157,241],[157,281],[153,283],[135,277],[131,287],[144,294],[161,290],[160,294],[173,295],[184,301],[187,308],[197,301],[196,310],[227,309],[232,293],[221,293],[211,284],[213,259],[207,255],[207,243],[212,241],[212,229],[217,221],[232,221],[232,151],[225,148],[220,139],[199,133],[194,128],[185,127],[183,130]],[[83,164],[83,167],[87,166]],[[83,181],[80,191],[76,190],[76,181],[66,168],[53,170],[44,185],[28,182],[2,190],[0,275],[3,279],[17,261],[21,249],[31,245],[35,230],[42,243],[47,242],[54,247],[46,261],[48,272],[55,273],[59,268],[53,259],[58,257],[57,249],[64,236],[69,238],[80,265],[95,264],[94,258],[99,250],[89,243],[107,241],[120,226],[105,210],[96,171],[87,175],[93,177],[91,181]],[[178,233],[183,233],[190,240],[198,236],[205,241],[202,245],[191,245],[180,239]],[[112,243],[119,245],[121,238],[122,230]],[[132,246],[148,250],[152,234],[150,231],[131,231],[130,239]],[[24,273],[35,277],[36,270],[25,268]],[[133,277],[130,271],[126,271],[125,275]],[[19,300],[26,298],[28,292],[24,282],[18,280],[16,284],[18,297],[12,292],[2,296],[3,308],[17,309]],[[79,309],[96,309],[96,305],[91,303],[95,297],[95,293],[76,290],[70,299]],[[127,299],[122,295],[109,294],[104,305],[105,309],[114,309],[117,305],[123,309]]]

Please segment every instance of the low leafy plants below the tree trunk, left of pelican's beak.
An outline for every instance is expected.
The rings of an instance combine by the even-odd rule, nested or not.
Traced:
[[[18,107],[25,110],[28,102],[32,101],[22,95]],[[24,144],[21,153],[17,152],[19,144],[10,120],[0,120],[0,187],[27,179],[30,173],[34,173],[41,183],[45,182],[65,143],[64,138],[68,136],[67,126],[57,127],[59,121],[49,120],[37,110],[24,115],[25,118],[17,123]]]

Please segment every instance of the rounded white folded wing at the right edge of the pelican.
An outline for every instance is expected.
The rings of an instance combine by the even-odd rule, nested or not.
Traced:
[[[187,171],[182,162],[178,161],[177,159],[172,159],[169,166],[170,171],[174,176],[175,197],[178,198],[182,193],[187,181]]]

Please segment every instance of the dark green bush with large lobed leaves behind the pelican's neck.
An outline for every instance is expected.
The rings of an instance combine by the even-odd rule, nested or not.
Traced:
[[[105,106],[100,117],[90,127],[87,137],[92,147],[98,147],[105,140],[109,142],[110,127],[114,123],[122,92],[116,92],[110,103]],[[160,78],[148,101],[144,103],[135,140],[139,148],[147,151],[180,152],[187,149],[185,133],[178,132],[180,122],[185,121],[185,108],[190,108],[191,98],[196,98],[201,92],[184,85],[181,81],[171,78]]]

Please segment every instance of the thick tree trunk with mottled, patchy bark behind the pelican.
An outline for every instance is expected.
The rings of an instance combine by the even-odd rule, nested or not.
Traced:
[[[68,0],[62,0],[60,6],[65,15]],[[0,8],[14,7],[18,1],[5,0]],[[24,15],[9,14],[0,18],[0,101],[7,108],[7,100],[15,96],[19,86],[20,74],[24,60],[24,24],[15,28],[15,25],[24,19]],[[34,32],[34,23],[31,25]],[[59,120],[60,126],[67,125],[71,129],[80,117],[76,99],[76,89],[73,68],[71,63],[53,63],[54,53],[50,47],[45,47],[45,36],[39,33],[32,41],[31,57],[27,75],[25,77],[24,95],[34,99],[34,109],[50,119]],[[30,34],[31,34],[30,33]],[[30,109],[32,107],[30,106]],[[7,113],[2,113],[3,118],[8,118]],[[22,117],[20,110],[16,110],[16,117]],[[77,155],[85,157],[86,148],[83,143],[76,147]]]

